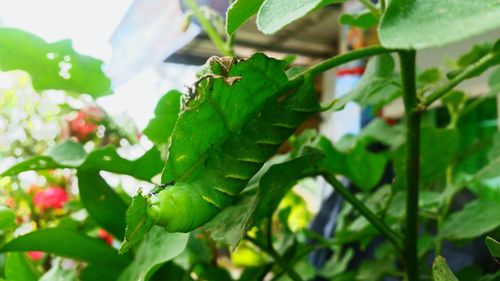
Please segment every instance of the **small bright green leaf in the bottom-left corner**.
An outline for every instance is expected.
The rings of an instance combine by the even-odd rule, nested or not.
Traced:
[[[5,278],[7,281],[36,281],[40,271],[24,253],[8,253],[5,260]]]

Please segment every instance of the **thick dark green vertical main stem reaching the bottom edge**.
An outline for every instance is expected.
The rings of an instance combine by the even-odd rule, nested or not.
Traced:
[[[406,227],[404,260],[409,281],[418,281],[418,189],[420,179],[420,115],[415,85],[415,51],[399,52],[406,119]]]

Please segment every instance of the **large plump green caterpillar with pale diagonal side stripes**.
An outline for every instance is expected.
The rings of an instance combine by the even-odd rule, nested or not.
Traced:
[[[285,67],[263,54],[230,65],[209,61],[212,74],[200,74],[206,81],[195,84],[196,98],[184,105],[171,136],[162,182],[175,184],[150,197],[155,224],[189,232],[210,221],[319,111],[310,79],[291,83]]]

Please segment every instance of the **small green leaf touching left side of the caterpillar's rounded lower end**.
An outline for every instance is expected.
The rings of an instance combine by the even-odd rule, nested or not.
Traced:
[[[147,214],[148,206],[148,200],[139,191],[127,209],[125,218],[127,227],[125,228],[125,239],[120,248],[120,253],[127,252],[134,244],[141,241],[144,235],[153,227],[153,220]]]

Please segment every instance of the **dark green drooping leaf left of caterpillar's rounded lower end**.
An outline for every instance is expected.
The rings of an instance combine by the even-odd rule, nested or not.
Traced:
[[[113,236],[125,234],[127,205],[99,175],[98,170],[78,170],[78,189],[89,215]]]

